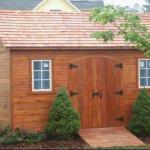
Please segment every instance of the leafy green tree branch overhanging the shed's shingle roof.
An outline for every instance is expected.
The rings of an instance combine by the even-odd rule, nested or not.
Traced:
[[[139,15],[128,12],[123,7],[106,6],[92,11],[90,20],[95,23],[106,25],[112,23],[117,28],[116,33],[111,29],[96,31],[92,37],[103,39],[104,42],[113,41],[116,36],[121,36],[126,42],[131,43],[138,50],[150,56],[150,34],[148,28],[141,23]]]

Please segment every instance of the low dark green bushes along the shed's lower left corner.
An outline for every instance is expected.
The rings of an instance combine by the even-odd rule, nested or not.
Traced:
[[[0,129],[0,144],[17,144],[17,143],[36,143],[43,141],[43,133],[29,133],[22,129],[12,130],[9,126]]]

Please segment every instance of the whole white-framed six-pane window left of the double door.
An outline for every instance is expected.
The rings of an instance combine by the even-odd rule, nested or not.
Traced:
[[[32,91],[52,90],[51,60],[32,60]]]

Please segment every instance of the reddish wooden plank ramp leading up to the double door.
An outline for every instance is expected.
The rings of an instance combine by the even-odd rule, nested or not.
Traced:
[[[144,145],[124,127],[80,129],[79,135],[92,148]]]

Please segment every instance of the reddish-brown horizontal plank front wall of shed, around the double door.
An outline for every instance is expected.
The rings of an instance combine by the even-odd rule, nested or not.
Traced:
[[[135,50],[11,50],[12,125],[14,128],[44,127],[57,89],[62,85],[68,87],[68,64],[84,56],[108,56],[122,61],[121,87],[124,93],[119,102],[119,113],[124,116],[123,125],[128,123],[132,104],[139,92],[138,58],[144,58],[140,52]],[[34,59],[52,59],[52,92],[32,92],[31,60]]]

